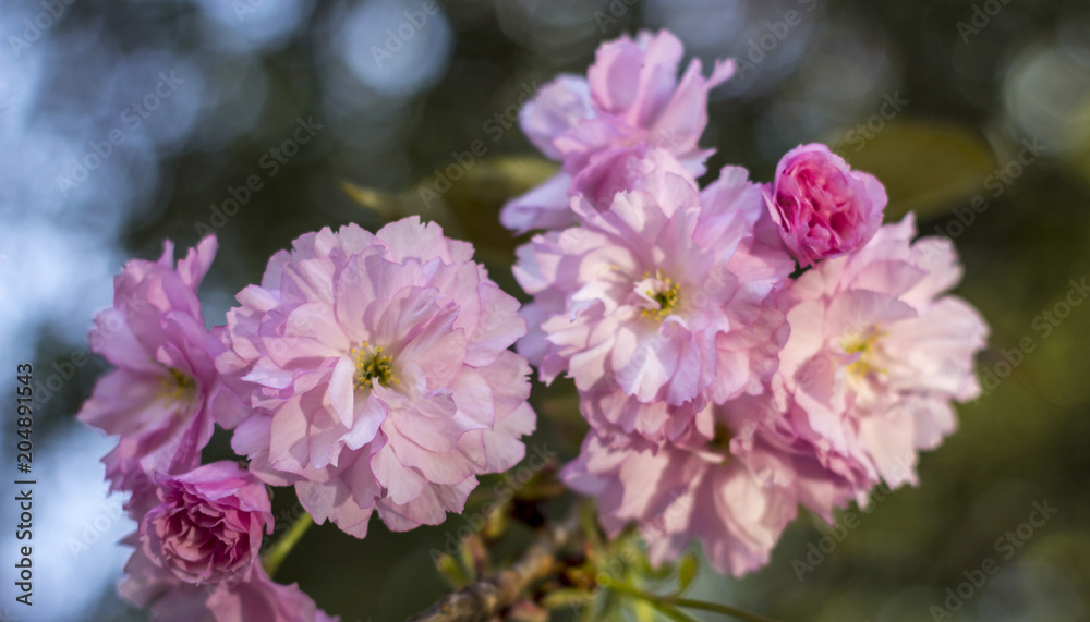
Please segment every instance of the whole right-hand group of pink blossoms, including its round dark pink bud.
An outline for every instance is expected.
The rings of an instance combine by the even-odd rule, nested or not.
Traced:
[[[692,540],[739,575],[767,563],[802,505],[865,503],[915,483],[919,450],[980,391],[988,328],[948,295],[945,239],[882,224],[886,194],[823,145],[771,183],[728,166],[701,188],[708,93],[669,33],[604,44],[521,112],[560,172],[509,202],[533,296],[518,351],[544,382],[573,379],[591,425],[564,471],[610,535],[637,525],[652,560]]]

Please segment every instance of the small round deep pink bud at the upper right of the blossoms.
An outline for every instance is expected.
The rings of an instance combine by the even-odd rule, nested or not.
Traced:
[[[882,225],[886,194],[873,175],[852,171],[825,145],[800,145],[765,188],[768,210],[802,266],[851,253]]]

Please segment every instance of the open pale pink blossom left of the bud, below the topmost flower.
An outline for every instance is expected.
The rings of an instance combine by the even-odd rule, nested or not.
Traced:
[[[682,419],[708,400],[761,392],[786,339],[773,294],[794,263],[775,247],[771,224],[759,223],[767,220],[760,190],[735,168],[703,194],[683,173],[646,175],[634,186],[605,211],[586,197],[573,200],[580,227],[518,251],[516,278],[534,296],[519,351],[546,382],[561,373],[574,378],[584,402],[613,400],[616,390],[680,407],[674,413]],[[596,407],[584,403],[584,414]],[[626,418],[626,431],[655,437],[662,410],[633,415],[632,407],[600,411],[615,423]]]

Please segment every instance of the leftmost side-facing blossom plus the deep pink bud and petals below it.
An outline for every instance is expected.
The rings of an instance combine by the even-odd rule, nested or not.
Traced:
[[[111,488],[129,493],[138,524],[121,595],[156,620],[332,620],[295,585],[269,578],[258,560],[272,533],[269,493],[234,462],[201,464],[221,416],[245,405],[223,391],[196,290],[216,255],[207,237],[174,265],[133,259],[114,279],[113,306],[98,314],[92,349],[114,370],[78,417],[119,437],[102,459]]]

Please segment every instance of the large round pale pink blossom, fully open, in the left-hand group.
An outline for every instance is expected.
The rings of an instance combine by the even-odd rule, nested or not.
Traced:
[[[255,410],[220,423],[319,523],[438,524],[522,459],[530,368],[507,347],[525,322],[472,255],[416,217],[323,229],[239,293],[217,364]]]

